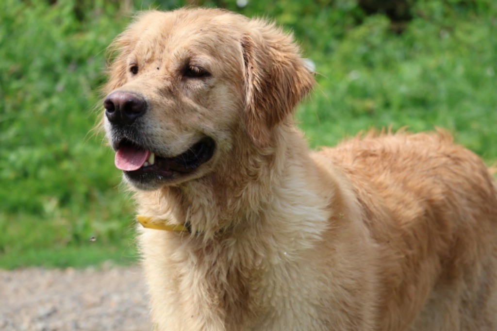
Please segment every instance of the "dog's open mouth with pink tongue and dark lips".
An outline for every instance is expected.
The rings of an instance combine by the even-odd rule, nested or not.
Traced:
[[[175,172],[188,173],[209,161],[214,153],[214,146],[214,140],[206,137],[184,153],[166,158],[124,139],[118,145],[114,163],[128,176],[155,174],[171,178]]]

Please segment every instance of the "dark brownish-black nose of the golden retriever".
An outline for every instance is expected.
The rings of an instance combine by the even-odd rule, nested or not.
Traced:
[[[114,124],[131,124],[145,114],[146,103],[143,97],[130,93],[115,91],[103,101],[105,116]]]

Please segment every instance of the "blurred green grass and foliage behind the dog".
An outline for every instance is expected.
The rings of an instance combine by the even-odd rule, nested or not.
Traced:
[[[293,32],[317,73],[296,115],[311,147],[439,126],[497,161],[495,0],[2,0],[0,268],[136,260],[133,202],[91,131],[105,49],[135,11],[185,4]]]

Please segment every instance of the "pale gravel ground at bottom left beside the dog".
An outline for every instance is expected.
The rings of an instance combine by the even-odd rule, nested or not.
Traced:
[[[0,270],[0,330],[149,331],[137,266]]]

